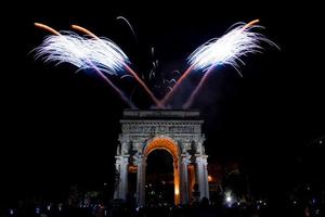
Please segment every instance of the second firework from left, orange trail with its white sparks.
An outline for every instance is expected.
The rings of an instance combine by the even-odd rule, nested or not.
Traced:
[[[114,59],[116,58],[116,55],[110,55],[110,53],[114,53],[112,51],[117,51],[118,54],[122,53],[122,51],[118,48],[116,49],[116,47],[114,47],[112,49],[112,47],[109,44],[107,44],[107,39],[106,38],[99,38],[98,36],[95,36],[94,34],[92,34],[90,30],[81,27],[81,26],[77,26],[77,25],[73,25],[72,26],[74,29],[83,31],[87,35],[92,36],[94,39],[96,40],[92,40],[90,39],[92,42],[95,41],[95,43],[99,46],[96,47],[98,50],[93,50],[90,51],[90,55],[94,56],[93,61],[94,63],[99,63],[100,66],[110,66],[112,65],[112,61],[114,61]],[[98,52],[99,51],[99,52]],[[99,55],[98,55],[99,53]],[[117,54],[117,55],[118,55]],[[156,97],[154,95],[154,93],[148,89],[148,87],[143,82],[143,80],[138,76],[138,74],[128,65],[129,60],[128,58],[123,54],[125,59],[120,60],[117,62],[118,64],[114,64],[117,65],[118,68],[117,69],[122,69],[125,68],[130,75],[132,75],[132,77],[134,77],[134,79],[140,84],[140,86],[143,87],[143,89],[147,92],[147,94],[152,98],[152,100],[155,102],[156,106],[161,107],[160,102],[156,99]],[[113,60],[112,60],[113,58]]]

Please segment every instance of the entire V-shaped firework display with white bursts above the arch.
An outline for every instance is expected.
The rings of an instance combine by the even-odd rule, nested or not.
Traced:
[[[125,21],[135,36],[132,26],[125,17],[118,16],[117,20]],[[36,58],[41,58],[44,62],[56,62],[57,64],[67,62],[77,66],[79,71],[87,68],[95,69],[96,74],[108,82],[126,102],[129,101],[128,104],[131,107],[134,107],[133,103],[125,97],[120,89],[117,88],[105,74],[118,76],[120,79],[128,76],[133,77],[155,102],[156,106],[162,108],[192,71],[203,72],[204,76],[183,106],[184,108],[187,108],[191,106],[193,100],[206,82],[208,75],[213,71],[214,66],[230,65],[242,76],[239,66],[245,64],[242,60],[243,56],[261,52],[261,42],[266,42],[276,47],[276,44],[262,34],[252,31],[255,28],[261,28],[261,26],[256,25],[258,22],[259,20],[248,24],[237,23],[222,37],[212,38],[198,47],[187,58],[190,66],[177,81],[174,79],[171,79],[170,81],[162,80],[164,85],[168,84],[167,88],[170,89],[170,91],[161,99],[161,101],[156,99],[146,84],[130,67],[131,63],[129,58],[116,43],[108,38],[100,38],[81,26],[73,25],[72,27],[75,30],[82,31],[87,36],[79,36],[73,31],[58,33],[47,25],[36,23],[35,25],[37,27],[53,34],[52,36],[47,37],[40,47],[35,49]],[[153,56],[154,52],[154,48],[152,48]],[[150,79],[155,75],[155,68],[158,65],[158,61],[154,61],[153,65],[154,69],[150,74]],[[173,87],[172,84],[174,84]]]

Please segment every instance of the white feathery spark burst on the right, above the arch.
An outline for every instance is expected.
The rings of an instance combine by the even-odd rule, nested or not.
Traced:
[[[262,28],[258,25],[238,23],[221,38],[212,38],[198,47],[188,58],[188,64],[193,69],[207,71],[211,66],[227,64],[238,73],[239,64],[244,64],[242,56],[248,53],[261,52],[262,41],[277,46],[259,33],[251,31],[253,28]]]

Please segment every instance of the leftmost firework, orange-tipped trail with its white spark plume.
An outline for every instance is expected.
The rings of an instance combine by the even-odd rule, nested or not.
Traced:
[[[87,43],[86,41],[88,40],[84,40],[83,38],[68,31],[61,34],[47,25],[39,23],[36,23],[35,25],[54,34],[53,36],[48,36],[43,43],[35,49],[36,59],[42,58],[44,62],[56,62],[57,64],[66,62],[77,66],[79,69],[93,68],[96,74],[104,79],[130,107],[135,107],[135,105],[123,94],[123,92],[116,87],[102,73],[98,65],[92,62],[91,58],[88,56],[90,52],[89,50],[92,48],[92,43]],[[122,53],[120,55],[122,56]],[[118,66],[118,63],[113,64],[112,68],[116,66]],[[102,67],[102,69],[105,69],[105,72],[110,72],[104,67]]]

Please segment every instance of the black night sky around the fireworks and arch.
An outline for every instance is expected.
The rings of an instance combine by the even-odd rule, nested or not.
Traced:
[[[127,105],[90,74],[75,74],[68,64],[34,61],[28,53],[48,35],[35,28],[35,22],[56,29],[78,24],[108,37],[144,75],[151,69],[154,47],[160,74],[170,76],[174,69],[185,69],[186,56],[199,44],[223,35],[236,22],[260,18],[265,27],[261,33],[281,50],[266,47],[263,54],[245,58],[244,78],[227,66],[210,77],[193,105],[205,119],[206,150],[211,162],[234,159],[246,165],[251,182],[262,192],[286,189],[296,175],[324,180],[320,170],[324,161],[317,158],[324,155],[324,146],[309,145],[325,135],[320,7],[284,5],[283,1],[179,5],[55,1],[20,8],[24,13],[17,5],[10,8],[1,34],[5,55],[1,64],[1,200],[37,192],[60,196],[72,183],[113,184],[118,122]],[[136,37],[116,20],[120,15],[128,18]],[[192,75],[183,92],[197,77]],[[121,86],[132,91],[135,84],[128,80]],[[135,88],[132,98],[141,108],[150,108],[143,95]],[[179,95],[174,103],[180,102]],[[311,161],[317,166],[308,167]]]

